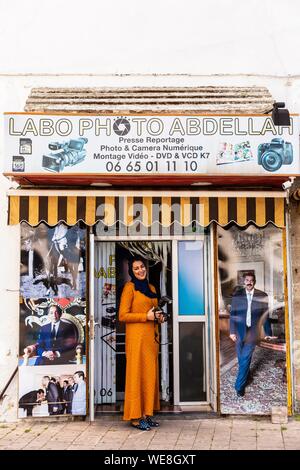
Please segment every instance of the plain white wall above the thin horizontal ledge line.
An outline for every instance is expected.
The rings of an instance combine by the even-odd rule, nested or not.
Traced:
[[[1,0],[4,73],[295,75],[297,0]]]

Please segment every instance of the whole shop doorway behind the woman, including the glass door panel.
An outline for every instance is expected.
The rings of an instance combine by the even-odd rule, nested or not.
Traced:
[[[125,325],[118,321],[128,260],[141,256],[159,298],[168,295],[169,320],[160,328],[161,412],[216,410],[216,352],[212,229],[173,240],[94,242],[95,417],[121,413],[125,391]]]

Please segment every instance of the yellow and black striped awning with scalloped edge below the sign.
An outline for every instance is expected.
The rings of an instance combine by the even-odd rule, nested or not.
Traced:
[[[200,193],[200,192],[199,192]],[[228,196],[214,193],[189,193],[175,196],[154,195],[9,195],[8,223],[27,222],[32,226],[45,222],[50,226],[59,222],[75,225],[78,221],[86,225],[99,222],[111,227],[116,224],[132,226],[141,224],[152,227],[192,224],[207,227],[211,222],[226,226],[234,222],[245,226],[253,222],[258,227],[273,223],[285,226],[284,197],[282,193],[271,196],[262,192],[262,197],[247,197],[233,192]],[[225,193],[226,194],[226,193]],[[249,192],[248,192],[249,194]]]

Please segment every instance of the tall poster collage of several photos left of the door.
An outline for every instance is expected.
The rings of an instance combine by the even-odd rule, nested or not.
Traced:
[[[86,230],[21,224],[19,418],[86,415]]]

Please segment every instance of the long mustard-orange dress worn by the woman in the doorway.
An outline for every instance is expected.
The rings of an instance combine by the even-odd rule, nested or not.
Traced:
[[[152,292],[155,287],[149,284]],[[124,286],[119,309],[119,320],[126,323],[126,384],[123,419],[152,416],[159,410],[158,343],[154,332],[157,324],[147,321],[147,312],[157,306],[135,290],[133,282]]]

